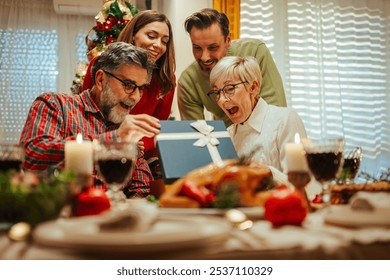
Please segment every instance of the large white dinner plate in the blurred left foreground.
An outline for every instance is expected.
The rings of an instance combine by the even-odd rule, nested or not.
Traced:
[[[131,254],[198,248],[227,238],[231,226],[218,217],[160,216],[144,232],[100,231],[96,223],[50,221],[33,233],[36,243],[84,252]]]

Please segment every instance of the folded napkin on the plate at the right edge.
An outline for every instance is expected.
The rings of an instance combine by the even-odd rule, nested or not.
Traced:
[[[390,211],[390,193],[357,192],[351,197],[350,207],[358,211]]]

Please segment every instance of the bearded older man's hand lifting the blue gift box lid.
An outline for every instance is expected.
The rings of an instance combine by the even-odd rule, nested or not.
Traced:
[[[159,119],[146,115],[127,115],[118,128],[118,136],[138,142],[142,137],[153,138],[160,132]]]

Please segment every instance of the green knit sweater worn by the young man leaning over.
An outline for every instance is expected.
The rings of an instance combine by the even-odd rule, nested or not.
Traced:
[[[239,39],[231,43],[228,56],[253,56],[259,62],[262,72],[261,97],[268,103],[286,106],[283,82],[267,46],[256,39]],[[204,119],[204,108],[214,115],[214,119],[224,120],[226,126],[232,122],[214,99],[207,96],[211,90],[210,75],[202,71],[196,61],[181,74],[177,86],[177,98],[182,120]]]

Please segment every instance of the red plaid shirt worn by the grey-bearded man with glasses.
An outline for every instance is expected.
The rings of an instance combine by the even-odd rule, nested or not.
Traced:
[[[24,167],[30,170],[64,167],[66,141],[75,140],[77,133],[89,140],[115,139],[117,128],[118,125],[105,121],[89,90],[74,96],[43,93],[33,102],[20,136],[20,142],[25,146]],[[128,197],[147,196],[152,178],[146,160],[138,157],[125,194]]]

